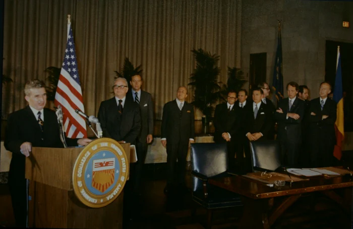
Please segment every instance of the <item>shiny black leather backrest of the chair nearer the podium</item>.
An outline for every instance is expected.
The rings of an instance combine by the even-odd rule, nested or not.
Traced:
[[[191,168],[207,177],[215,176],[228,169],[226,143],[191,144]],[[202,189],[202,182],[193,179],[193,191]]]

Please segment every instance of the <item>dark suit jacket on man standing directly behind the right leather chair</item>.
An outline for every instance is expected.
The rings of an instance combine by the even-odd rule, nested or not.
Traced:
[[[270,130],[272,123],[272,111],[266,104],[261,102],[256,119],[254,118],[253,102],[249,103],[246,111],[245,132],[257,133],[261,132],[263,136],[259,140],[270,138]]]

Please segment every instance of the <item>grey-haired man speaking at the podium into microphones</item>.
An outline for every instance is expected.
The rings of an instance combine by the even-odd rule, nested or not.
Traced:
[[[64,147],[55,112],[44,108],[46,91],[43,81],[30,80],[25,85],[25,99],[29,106],[9,115],[5,135],[5,148],[12,152],[9,171],[9,188],[16,225],[26,227],[27,195],[25,157],[32,147]],[[90,139],[66,139],[69,146],[85,146]]]

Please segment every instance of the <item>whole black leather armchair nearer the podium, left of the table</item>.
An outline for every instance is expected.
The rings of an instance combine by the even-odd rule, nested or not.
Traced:
[[[192,198],[207,209],[207,227],[211,226],[212,209],[242,206],[240,196],[208,184],[209,178],[231,176],[227,173],[226,143],[191,144]]]

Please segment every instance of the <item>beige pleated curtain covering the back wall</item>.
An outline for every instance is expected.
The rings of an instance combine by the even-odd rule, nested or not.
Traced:
[[[113,71],[120,71],[125,57],[142,64],[143,89],[153,96],[155,119],[161,119],[178,86],[189,83],[192,49],[220,55],[220,81],[226,82],[227,66],[240,67],[241,1],[6,0],[3,74],[14,82],[3,88],[4,118],[26,105],[27,80],[44,80],[45,68],[62,65],[68,14],[89,115],[112,97]]]

